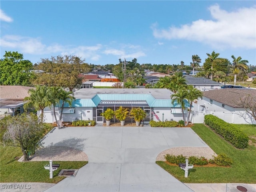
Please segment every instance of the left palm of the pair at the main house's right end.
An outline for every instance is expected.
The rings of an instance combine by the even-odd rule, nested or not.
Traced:
[[[178,92],[171,95],[172,104],[181,105],[182,117],[184,122],[186,122],[184,116],[184,110],[186,110],[186,96],[188,95],[188,91],[185,89],[179,89]]]

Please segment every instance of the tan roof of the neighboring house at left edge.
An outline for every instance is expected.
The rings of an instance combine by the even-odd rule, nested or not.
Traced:
[[[1,85],[0,86],[0,98],[1,99],[24,99],[29,96],[28,90],[33,87],[27,86],[9,86]]]

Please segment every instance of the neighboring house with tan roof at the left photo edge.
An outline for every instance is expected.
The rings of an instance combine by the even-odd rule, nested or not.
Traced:
[[[0,86],[0,116],[15,115],[24,112],[24,98],[29,96],[27,86]]]

